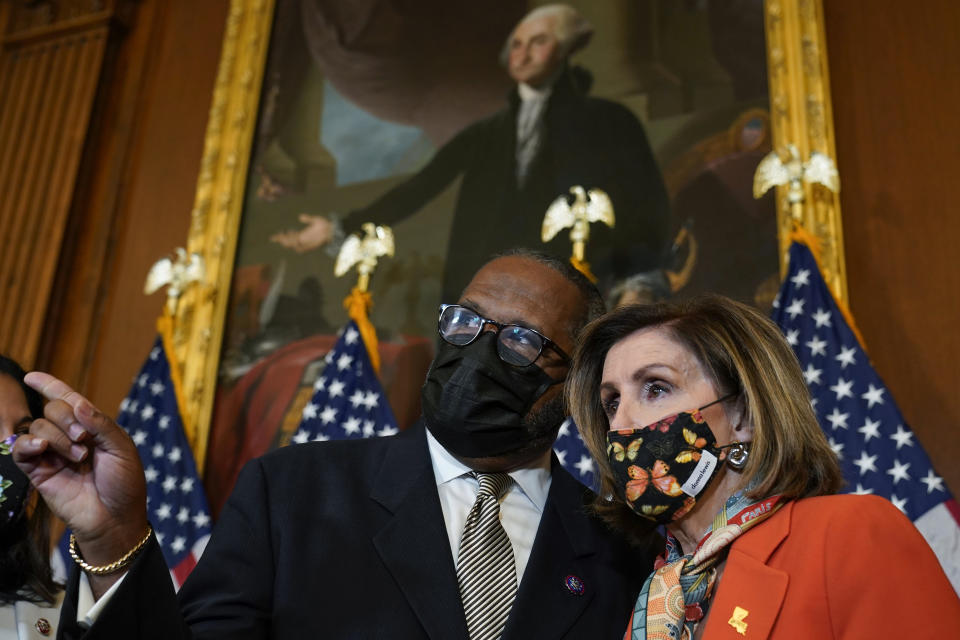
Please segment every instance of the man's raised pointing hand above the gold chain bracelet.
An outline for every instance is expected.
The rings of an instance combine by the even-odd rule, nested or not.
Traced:
[[[73,530],[84,560],[109,564],[147,530],[146,482],[136,446],[65,382],[36,371],[24,381],[49,402],[29,435],[17,439],[14,460]]]

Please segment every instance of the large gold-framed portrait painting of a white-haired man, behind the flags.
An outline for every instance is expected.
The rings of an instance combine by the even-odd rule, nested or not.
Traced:
[[[573,255],[548,210],[594,212],[575,259],[610,305],[769,307],[794,220],[753,174],[787,143],[832,153],[823,41],[801,0],[235,0],[188,242],[207,285],[176,332],[214,510],[295,432],[355,284],[333,249],[364,223],[395,241],[370,319],[401,428],[438,305],[513,246]],[[836,199],[809,195],[842,285]]]

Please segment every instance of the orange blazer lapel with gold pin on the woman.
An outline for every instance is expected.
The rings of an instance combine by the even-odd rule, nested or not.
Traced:
[[[789,577],[766,563],[790,533],[793,506],[793,502],[788,502],[780,513],[733,543],[717,595],[710,604],[704,638],[764,640],[770,636],[783,606]],[[734,618],[746,626],[738,625]]]

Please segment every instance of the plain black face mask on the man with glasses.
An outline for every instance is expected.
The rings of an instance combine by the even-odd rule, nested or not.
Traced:
[[[497,355],[494,332],[465,347],[440,343],[421,390],[423,419],[450,453],[487,458],[522,449],[542,433],[527,429],[530,407],[554,380],[535,364],[514,367]]]

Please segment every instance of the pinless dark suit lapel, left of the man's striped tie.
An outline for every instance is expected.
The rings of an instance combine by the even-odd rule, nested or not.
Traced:
[[[431,638],[466,638],[450,543],[422,425],[395,439],[370,496],[390,512],[380,558]]]

